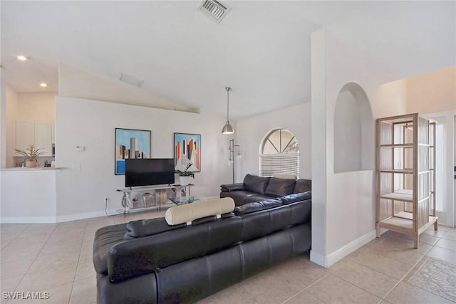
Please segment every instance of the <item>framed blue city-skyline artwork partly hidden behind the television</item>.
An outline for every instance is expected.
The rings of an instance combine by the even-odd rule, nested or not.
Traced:
[[[125,174],[125,159],[150,158],[150,142],[150,130],[122,129],[116,127],[114,174]],[[135,145],[134,149],[132,149],[132,145]]]

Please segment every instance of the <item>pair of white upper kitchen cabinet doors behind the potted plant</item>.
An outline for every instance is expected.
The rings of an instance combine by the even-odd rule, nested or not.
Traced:
[[[30,145],[52,156],[53,132],[51,122],[16,122],[16,149],[26,150]]]

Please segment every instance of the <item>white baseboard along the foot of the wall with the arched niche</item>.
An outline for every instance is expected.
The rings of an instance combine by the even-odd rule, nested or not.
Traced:
[[[342,258],[345,258],[346,256],[348,256],[348,254],[352,253],[353,251],[356,251],[362,246],[366,245],[366,243],[369,243],[370,241],[375,239],[376,236],[377,234],[374,229],[373,231],[368,232],[367,234],[359,237],[358,239],[351,241],[350,243],[346,244],[346,246],[343,246],[337,251],[329,253],[327,256],[323,256],[320,253],[311,251],[311,261],[320,266],[329,267],[335,264],[336,262],[341,261]]]

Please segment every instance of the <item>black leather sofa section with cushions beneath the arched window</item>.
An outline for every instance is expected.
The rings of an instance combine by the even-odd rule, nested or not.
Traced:
[[[311,191],[311,187],[310,179],[278,179],[247,174],[242,183],[222,184],[220,197],[231,197],[237,206],[242,206],[252,201]]]

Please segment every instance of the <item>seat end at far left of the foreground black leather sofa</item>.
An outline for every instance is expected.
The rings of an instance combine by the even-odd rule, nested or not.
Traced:
[[[126,224],[106,226],[95,232],[93,241],[93,266],[97,273],[108,273],[108,251],[117,243],[125,241]]]

